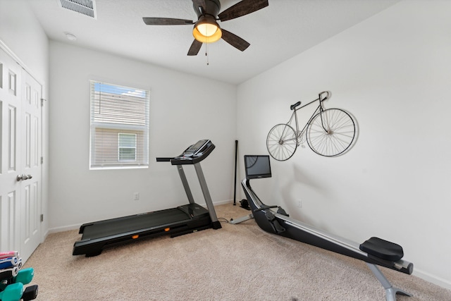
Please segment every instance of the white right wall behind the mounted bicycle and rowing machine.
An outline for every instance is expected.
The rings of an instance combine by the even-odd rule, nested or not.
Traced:
[[[451,288],[451,1],[402,1],[238,87],[243,154],[267,154],[266,135],[290,104],[332,92],[350,111],[354,147],[326,158],[297,149],[252,183],[295,219],[363,242],[397,242],[414,274]],[[299,37],[302,38],[302,37]],[[242,172],[242,159],[240,159]],[[302,208],[297,207],[302,201]]]

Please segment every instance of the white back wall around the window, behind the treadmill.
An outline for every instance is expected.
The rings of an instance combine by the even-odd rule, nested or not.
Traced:
[[[233,198],[235,85],[54,41],[50,70],[51,229],[186,204],[177,168],[155,158],[178,156],[205,138],[216,145],[201,164],[211,198]],[[89,171],[92,79],[150,90],[149,168]],[[184,169],[194,199],[204,204],[193,166]]]

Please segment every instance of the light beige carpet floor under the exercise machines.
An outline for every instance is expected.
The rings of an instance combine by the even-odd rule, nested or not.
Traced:
[[[253,220],[226,223],[249,214],[233,204],[216,213],[221,229],[151,238],[97,257],[72,255],[78,231],[51,234],[25,264],[35,269],[37,300],[385,300],[364,262],[266,233]],[[451,300],[451,290],[380,269],[413,294],[397,301]]]

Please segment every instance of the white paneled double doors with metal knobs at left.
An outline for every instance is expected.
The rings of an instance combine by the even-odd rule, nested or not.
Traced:
[[[41,86],[0,49],[0,251],[24,261],[41,235],[40,99]]]

